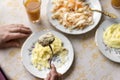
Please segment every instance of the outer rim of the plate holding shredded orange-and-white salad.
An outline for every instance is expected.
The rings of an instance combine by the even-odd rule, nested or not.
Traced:
[[[49,0],[48,1],[48,3],[47,3],[47,13],[50,13],[49,12],[49,8],[48,8],[48,6],[50,6],[49,4],[51,3],[51,1],[52,0]],[[89,1],[91,1],[91,0],[89,0]],[[99,0],[96,0],[98,3],[99,3],[99,9],[98,10],[101,10],[102,11],[102,6],[101,6],[101,3],[100,3],[100,1]],[[50,10],[51,11],[51,10]],[[86,31],[84,31],[84,32],[79,32],[79,33],[71,33],[70,31],[68,32],[68,31],[63,31],[63,30],[61,30],[61,29],[58,29],[56,26],[57,25],[55,25],[54,23],[52,23],[52,21],[50,20],[50,18],[49,18],[49,14],[47,14],[47,17],[48,17],[48,21],[49,21],[49,23],[55,28],[55,29],[57,29],[57,30],[59,30],[59,31],[61,31],[61,32],[63,32],[63,33],[66,33],[66,34],[70,34],[70,35],[80,35],[80,34],[85,34],[85,33],[87,33],[87,32],[89,32],[89,31],[91,31],[91,30],[93,30],[98,24],[99,24],[99,22],[100,22],[100,20],[101,20],[101,18],[102,18],[102,14],[101,13],[99,13],[99,20],[97,21],[97,23],[91,28],[91,29],[88,29],[88,30],[86,30]],[[60,24],[59,24],[60,25]],[[62,27],[62,26],[61,26]],[[89,27],[89,26],[88,26]],[[66,29],[66,30],[68,30],[68,29]]]

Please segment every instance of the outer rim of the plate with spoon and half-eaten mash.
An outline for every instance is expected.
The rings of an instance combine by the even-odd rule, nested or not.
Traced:
[[[60,32],[57,32],[57,31],[55,31],[55,30],[51,30],[51,29],[45,29],[45,30],[42,30],[42,31],[40,31],[40,32],[34,32],[34,33],[32,33],[32,34],[26,39],[26,41],[24,42],[24,44],[23,44],[23,46],[22,46],[22,48],[21,48],[21,58],[22,58],[21,61],[22,61],[23,66],[25,67],[25,69],[26,69],[30,74],[32,74],[33,76],[38,77],[38,78],[45,78],[45,77],[40,77],[39,75],[35,75],[34,73],[32,73],[32,72],[27,68],[27,66],[24,64],[23,57],[22,57],[22,56],[23,56],[23,50],[24,50],[23,48],[24,48],[24,46],[27,44],[28,40],[31,39],[33,36],[35,36],[35,34],[37,34],[37,33],[44,34],[44,32],[47,32],[47,31],[53,31],[53,32],[57,33],[58,35],[64,36],[64,37],[69,41],[69,43],[70,43],[70,45],[71,45],[71,48],[72,48],[72,50],[71,50],[72,58],[71,58],[71,61],[70,61],[70,65],[67,67],[66,71],[65,71],[64,73],[62,73],[62,74],[65,74],[65,73],[70,69],[70,67],[72,66],[72,64],[73,64],[73,62],[74,62],[75,53],[74,53],[73,45],[72,45],[71,41],[70,41],[65,35],[63,35],[63,34],[60,33]],[[33,67],[34,67],[34,66],[33,66]]]

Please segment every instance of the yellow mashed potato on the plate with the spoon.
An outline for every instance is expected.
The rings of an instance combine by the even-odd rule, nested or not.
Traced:
[[[55,37],[55,40],[51,46],[53,48],[54,55],[61,54],[61,59],[66,56],[67,50],[63,47],[62,41],[59,38]],[[48,46],[43,47],[38,42],[36,42],[35,48],[32,50],[31,62],[38,70],[50,68],[49,59],[51,56],[52,52]]]

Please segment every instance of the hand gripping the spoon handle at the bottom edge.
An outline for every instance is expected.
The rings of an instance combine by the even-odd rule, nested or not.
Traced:
[[[61,74],[56,71],[55,66],[51,65],[51,71],[48,73],[47,78],[44,80],[61,80]]]

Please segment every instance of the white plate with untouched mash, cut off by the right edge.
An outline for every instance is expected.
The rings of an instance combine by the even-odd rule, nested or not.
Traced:
[[[107,27],[114,23],[120,23],[120,19],[110,19],[104,21],[96,31],[95,41],[99,50],[103,53],[104,56],[114,62],[120,63],[120,49],[107,47],[103,42],[103,32]]]

